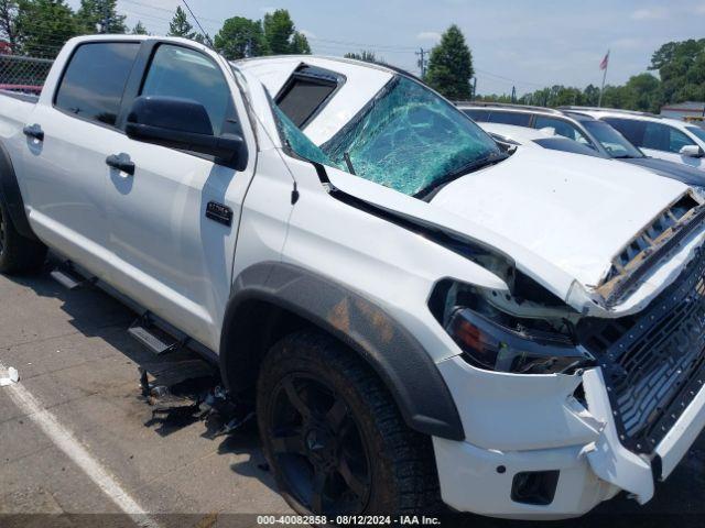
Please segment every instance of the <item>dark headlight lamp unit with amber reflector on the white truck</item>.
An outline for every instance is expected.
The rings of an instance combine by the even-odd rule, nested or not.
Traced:
[[[474,366],[520,374],[553,374],[592,365],[594,358],[557,332],[514,330],[469,308],[458,308],[446,328]]]

